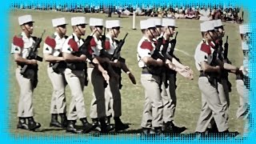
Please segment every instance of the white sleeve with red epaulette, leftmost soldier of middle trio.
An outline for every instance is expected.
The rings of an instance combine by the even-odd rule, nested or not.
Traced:
[[[138,46],[138,54],[141,58],[151,57],[151,50],[153,49],[154,47],[151,42],[142,42],[142,44]]]

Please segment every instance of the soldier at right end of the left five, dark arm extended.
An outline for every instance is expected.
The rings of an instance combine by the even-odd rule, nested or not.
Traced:
[[[113,56],[114,50],[118,47],[118,41],[115,38],[118,38],[120,34],[120,21],[119,20],[109,20],[106,21],[106,29],[108,34],[106,34],[105,49],[106,51]],[[119,54],[120,57],[120,54]],[[124,70],[126,74],[129,75],[130,80],[136,84],[134,75],[131,74],[130,70],[126,66],[124,58],[118,58],[117,62],[110,62],[116,74],[119,75],[119,79],[110,78],[109,85],[105,89],[105,98],[106,98],[106,110],[107,115],[109,116],[108,122],[110,123],[110,116],[114,117],[115,131],[126,130],[129,128],[128,125],[122,123],[120,117],[122,115],[122,106],[121,106],[121,94],[119,89],[121,88],[121,70]]]

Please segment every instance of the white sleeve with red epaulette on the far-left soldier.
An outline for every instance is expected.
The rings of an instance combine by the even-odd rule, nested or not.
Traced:
[[[13,43],[11,44],[11,54],[22,54],[22,49],[24,47],[24,42],[22,38],[18,38],[16,35],[13,38]]]

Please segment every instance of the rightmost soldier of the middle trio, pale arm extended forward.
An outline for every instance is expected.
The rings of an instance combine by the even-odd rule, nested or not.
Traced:
[[[181,133],[186,130],[186,127],[178,127],[174,125],[174,112],[176,108],[176,74],[181,74],[185,78],[193,79],[193,71],[189,66],[184,66],[179,62],[179,59],[174,56],[174,40],[170,40],[174,35],[175,26],[174,19],[162,19],[162,54],[168,55],[166,59],[167,69],[162,76],[162,101],[163,101],[163,130]],[[161,36],[159,37],[161,38]],[[175,40],[176,41],[176,40]],[[175,42],[176,43],[176,42]],[[166,46],[167,45],[167,46]]]

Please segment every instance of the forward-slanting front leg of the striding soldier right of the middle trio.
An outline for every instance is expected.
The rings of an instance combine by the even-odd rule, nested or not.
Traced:
[[[206,102],[212,110],[214,115],[214,121],[218,126],[219,132],[228,130],[227,115],[225,111],[225,105],[222,104],[217,90],[210,85],[208,78],[200,77],[198,80],[199,88],[202,90],[202,94],[206,96]]]

